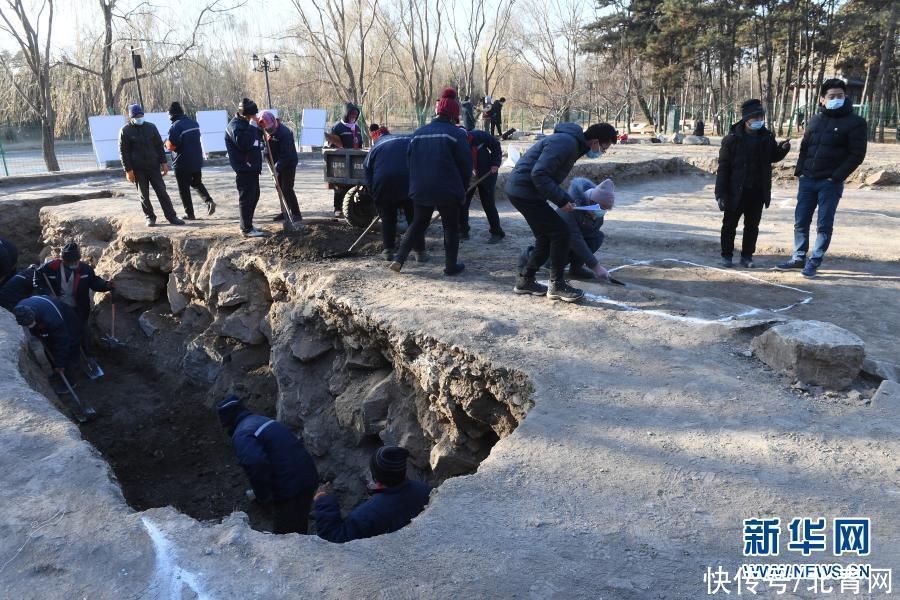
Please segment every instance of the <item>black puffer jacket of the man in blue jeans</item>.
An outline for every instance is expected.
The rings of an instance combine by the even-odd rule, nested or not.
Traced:
[[[819,109],[800,142],[794,175],[842,182],[866,158],[866,120],[853,114],[853,105]]]

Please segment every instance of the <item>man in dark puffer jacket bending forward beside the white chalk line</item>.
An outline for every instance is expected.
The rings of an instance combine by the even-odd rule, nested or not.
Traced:
[[[535,237],[534,253],[519,271],[513,292],[546,295],[551,300],[577,302],[584,292],[566,283],[569,256],[569,228],[547,204],[550,200],[563,212],[575,210],[569,193],[561,187],[575,161],[584,155],[597,158],[616,143],[616,130],[609,123],[597,123],[583,131],[577,123],[560,123],[538,141],[516,163],[504,191],[510,203],[522,213]],[[535,281],[535,274],[550,259],[550,287]]]

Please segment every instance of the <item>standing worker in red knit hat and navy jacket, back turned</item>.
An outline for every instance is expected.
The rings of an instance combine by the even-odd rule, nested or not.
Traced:
[[[466,266],[459,255],[459,211],[466,201],[472,177],[469,136],[456,126],[459,100],[456,90],[447,88],[437,103],[437,117],[413,134],[409,142],[409,196],[415,206],[412,226],[403,235],[400,249],[391,263],[397,273],[403,268],[412,245],[425,235],[434,210],[444,227],[444,275],[456,275]]]

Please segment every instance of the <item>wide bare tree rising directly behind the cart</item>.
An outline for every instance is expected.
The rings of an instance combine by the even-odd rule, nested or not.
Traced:
[[[379,0],[319,0],[311,10],[306,2],[292,1],[300,17],[297,39],[311,50],[334,91],[361,105],[387,54],[386,44],[372,52]]]

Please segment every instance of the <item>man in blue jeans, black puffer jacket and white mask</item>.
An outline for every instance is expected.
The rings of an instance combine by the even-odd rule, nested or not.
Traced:
[[[819,93],[819,113],[809,121],[800,142],[800,157],[794,175],[800,178],[794,211],[794,255],[779,269],[803,269],[804,277],[815,277],[831,243],[834,215],[844,193],[844,180],[866,157],[866,120],[853,114],[847,84],[829,79]],[[809,260],[809,227],[816,219],[816,242]]]

